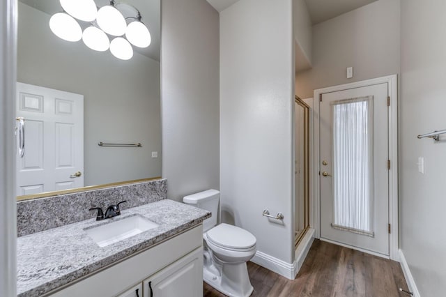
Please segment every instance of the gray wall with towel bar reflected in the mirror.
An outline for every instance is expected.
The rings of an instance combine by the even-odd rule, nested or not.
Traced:
[[[19,3],[17,81],[84,95],[85,185],[161,175],[160,62],[121,61],[56,37],[50,15]],[[141,142],[101,148],[98,142]]]

